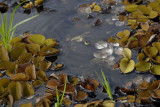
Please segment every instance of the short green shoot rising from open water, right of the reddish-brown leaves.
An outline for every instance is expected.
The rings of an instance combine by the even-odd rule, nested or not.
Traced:
[[[98,73],[95,71],[96,75],[98,76],[98,79],[101,81],[104,89],[106,90],[106,92],[108,93],[108,96],[111,98],[111,100],[113,100],[113,96],[112,96],[112,92],[111,92],[111,88],[109,86],[109,83],[107,81],[107,78],[105,77],[104,73],[103,73],[103,70],[101,70],[101,73],[102,73],[102,76],[103,76],[103,80],[104,82],[102,81],[102,79],[100,78],[100,76],[98,75]]]

